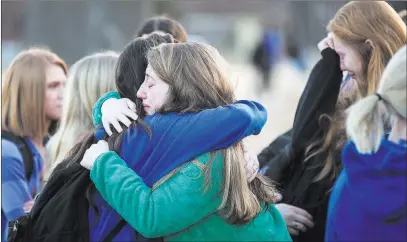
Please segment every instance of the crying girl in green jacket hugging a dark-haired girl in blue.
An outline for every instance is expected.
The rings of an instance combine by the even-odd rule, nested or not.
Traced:
[[[215,100],[218,106],[232,103],[234,94],[222,69],[223,61],[214,48],[203,44],[155,47],[149,52],[146,79],[137,97],[150,115],[163,107],[171,112],[176,108],[171,101],[180,96],[190,98],[187,104],[197,109],[202,105],[197,100]],[[224,95],[215,97],[217,93]],[[207,97],[194,99],[196,95]],[[188,144],[185,146],[187,149]],[[109,151],[105,141],[92,145],[81,164],[91,170],[91,179],[109,205],[145,237],[164,237],[166,241],[291,241],[283,218],[272,204],[270,181],[257,175],[248,184],[243,160],[238,142],[181,165],[152,188]]]

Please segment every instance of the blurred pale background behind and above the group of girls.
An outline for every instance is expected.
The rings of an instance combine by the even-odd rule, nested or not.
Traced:
[[[92,52],[120,51],[143,20],[165,14],[184,25],[190,41],[213,45],[231,63],[237,98],[267,107],[266,127],[249,139],[252,149],[260,151],[291,127],[307,75],[319,59],[317,43],[345,2],[2,1],[2,72],[31,46],[51,49],[69,65]],[[406,2],[389,3],[397,11],[406,8]],[[259,68],[264,46],[271,65],[266,76]]]

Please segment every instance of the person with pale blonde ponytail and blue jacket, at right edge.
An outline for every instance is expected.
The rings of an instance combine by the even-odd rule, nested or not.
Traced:
[[[351,142],[331,192],[326,241],[407,239],[406,46],[390,60],[376,93],[349,108]],[[391,130],[385,134],[384,119]]]

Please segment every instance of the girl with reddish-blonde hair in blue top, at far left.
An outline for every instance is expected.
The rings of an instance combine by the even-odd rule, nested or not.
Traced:
[[[67,66],[55,53],[29,49],[19,53],[7,69],[2,88],[1,230],[7,238],[8,222],[28,213],[40,191],[45,140],[55,132],[62,114]],[[11,133],[31,156],[3,138]],[[24,157],[25,156],[25,157]],[[23,158],[24,157],[24,158]],[[25,160],[24,160],[25,159]],[[27,160],[32,164],[26,167]],[[26,177],[30,169],[29,177]]]

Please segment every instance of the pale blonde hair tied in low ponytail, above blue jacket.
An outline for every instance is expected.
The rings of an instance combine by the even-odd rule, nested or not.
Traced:
[[[384,134],[383,115],[407,118],[406,50],[404,46],[390,60],[377,94],[367,96],[349,108],[346,130],[360,153],[372,153],[379,149]]]

